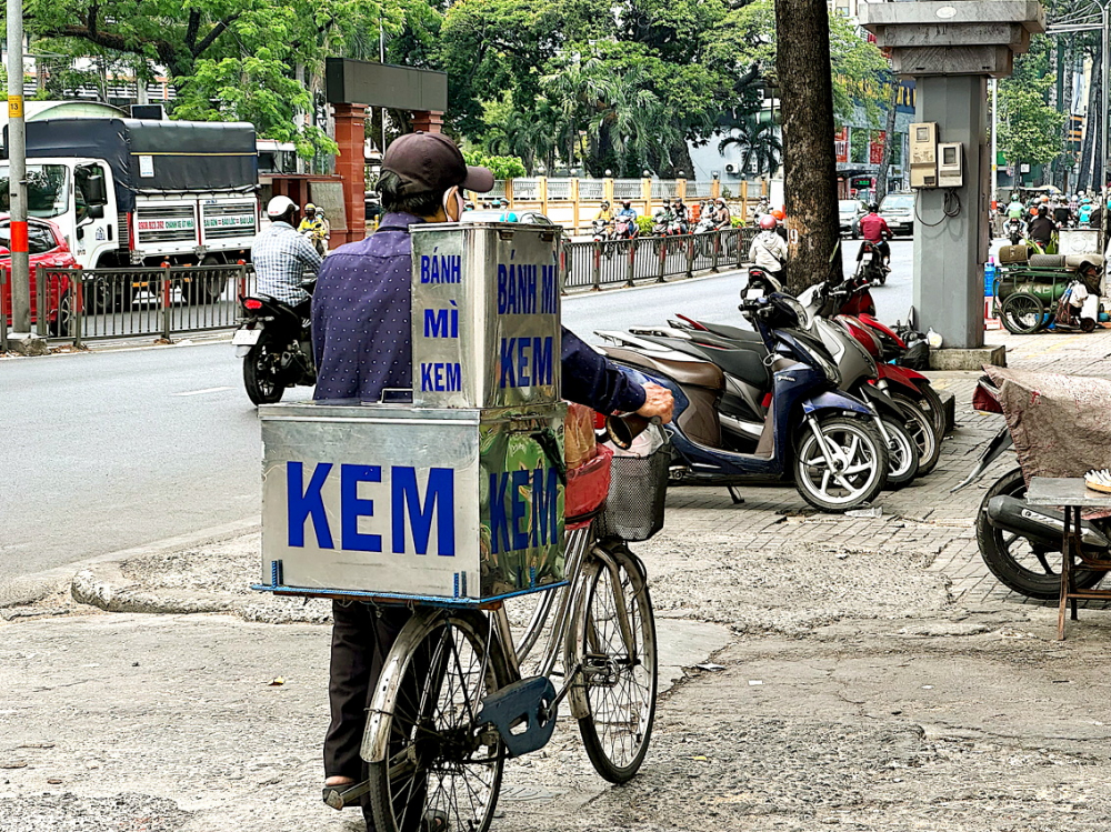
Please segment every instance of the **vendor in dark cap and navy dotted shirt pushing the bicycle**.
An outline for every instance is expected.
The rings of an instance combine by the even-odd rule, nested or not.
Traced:
[[[313,303],[313,348],[319,368],[316,399],[378,401],[386,389],[412,388],[409,229],[424,222],[457,222],[462,189],[487,192],[493,173],[469,167],[448,137],[408,133],[386,150],[378,182],[386,215],[379,230],[341,247],[321,269]],[[615,364],[563,330],[563,395],[599,411],[635,411],[670,421],[671,392],[638,384]],[[324,740],[326,788],[367,779],[359,749],[367,709],[382,664],[411,615],[403,607],[359,601],[332,603],[329,700]],[[411,799],[417,805],[421,799]],[[363,816],[373,831],[370,795]],[[431,815],[412,830],[444,830]],[[407,828],[408,830],[408,828]]]

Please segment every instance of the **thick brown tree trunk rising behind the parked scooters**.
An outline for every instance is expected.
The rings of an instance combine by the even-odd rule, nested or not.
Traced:
[[[775,0],[775,76],[783,129],[787,280],[793,291],[842,275],[825,0]]]

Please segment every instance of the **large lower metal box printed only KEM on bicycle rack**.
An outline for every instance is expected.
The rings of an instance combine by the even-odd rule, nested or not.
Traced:
[[[565,412],[260,408],[254,588],[474,604],[561,584]]]

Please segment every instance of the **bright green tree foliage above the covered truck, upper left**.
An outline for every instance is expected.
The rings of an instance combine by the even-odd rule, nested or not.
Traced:
[[[394,31],[428,11],[423,0],[24,0],[36,51],[91,56],[112,74],[143,80],[166,67],[178,88],[173,118],[251,121],[266,138],[292,141],[302,156],[336,152],[306,119],[321,101],[323,60],[378,52],[378,21]],[[393,3],[401,3],[400,6]],[[59,69],[58,93],[101,73]]]

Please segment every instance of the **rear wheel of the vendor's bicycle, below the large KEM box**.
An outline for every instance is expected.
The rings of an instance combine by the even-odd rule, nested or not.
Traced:
[[[420,832],[434,816],[448,829],[489,828],[506,754],[498,732],[474,718],[510,681],[489,633],[481,613],[430,611],[387,656],[362,745],[379,832]]]

